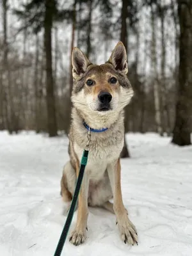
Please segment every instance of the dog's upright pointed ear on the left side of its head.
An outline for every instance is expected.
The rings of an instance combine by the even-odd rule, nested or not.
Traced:
[[[74,79],[84,74],[88,65],[90,65],[88,58],[79,48],[74,47],[72,51],[72,74]]]

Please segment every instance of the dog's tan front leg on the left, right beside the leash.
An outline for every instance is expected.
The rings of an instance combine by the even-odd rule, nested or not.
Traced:
[[[79,166],[77,166],[77,175],[79,175]],[[88,174],[85,170],[79,193],[76,228],[69,238],[69,241],[76,246],[82,244],[86,239],[88,220],[88,182]]]

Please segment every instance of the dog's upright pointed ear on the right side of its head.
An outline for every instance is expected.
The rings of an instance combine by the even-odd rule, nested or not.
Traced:
[[[115,49],[113,49],[108,63],[111,63],[116,71],[127,74],[127,52],[122,42],[118,42],[118,44],[115,46]]]

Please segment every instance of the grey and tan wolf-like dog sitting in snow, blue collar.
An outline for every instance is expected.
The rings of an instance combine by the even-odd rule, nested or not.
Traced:
[[[76,187],[79,166],[90,127],[88,163],[84,171],[77,207],[76,228],[70,235],[74,245],[86,239],[88,205],[115,213],[122,241],[138,244],[136,227],[129,220],[121,191],[120,153],[124,146],[124,108],[133,90],[127,78],[127,53],[118,42],[109,60],[93,65],[85,54],[72,51],[72,122],[68,153],[61,178],[61,196],[70,202]],[[99,131],[99,132],[98,132]],[[113,204],[109,202],[113,198]]]

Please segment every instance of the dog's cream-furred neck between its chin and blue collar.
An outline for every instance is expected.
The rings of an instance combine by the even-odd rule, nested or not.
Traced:
[[[100,113],[93,112],[92,113],[83,113],[79,111],[79,109],[73,108],[72,109],[72,117],[78,116],[80,122],[85,122],[89,127],[92,129],[104,129],[110,128],[118,118],[122,116],[123,111],[121,113],[116,113],[115,111],[111,111],[111,113],[104,113],[104,115],[100,115]],[[73,118],[74,121],[75,118]]]

